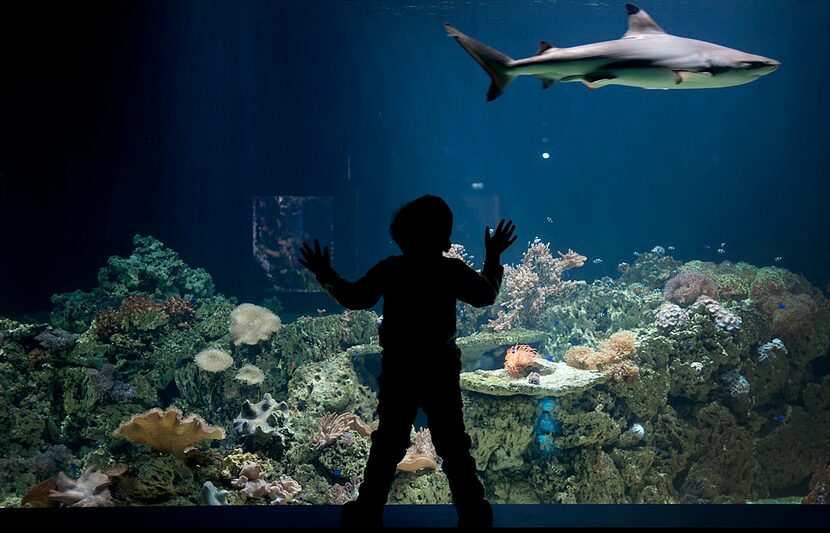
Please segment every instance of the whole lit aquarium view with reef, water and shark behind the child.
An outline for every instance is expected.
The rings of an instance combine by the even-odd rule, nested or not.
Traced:
[[[830,3],[56,9],[0,115],[0,507],[355,500],[383,309],[299,247],[354,281],[423,194],[473,270],[519,235],[456,307],[491,503],[830,501]],[[423,414],[389,503],[452,503]]]

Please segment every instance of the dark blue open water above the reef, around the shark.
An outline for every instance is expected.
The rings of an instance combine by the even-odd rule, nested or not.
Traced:
[[[662,244],[684,260],[782,256],[825,286],[830,2],[640,7],[669,33],[782,67],[700,91],[542,91],[520,78],[488,104],[486,75],[444,21],[525,57],[541,39],[618,38],[623,2],[3,3],[0,312],[91,288],[135,233],[258,301],[261,194],[334,195],[335,266],[350,276],[396,251],[392,213],[429,192],[456,209],[456,240],[477,257],[465,196],[498,195],[519,244],[538,235],[602,258],[588,279]]]

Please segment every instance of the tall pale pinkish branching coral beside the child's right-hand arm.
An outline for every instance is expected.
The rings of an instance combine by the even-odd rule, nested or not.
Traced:
[[[553,257],[549,243],[534,243],[519,265],[505,267],[502,291],[507,299],[501,304],[498,316],[488,324],[491,329],[505,331],[534,326],[534,317],[552,298],[573,288],[573,282],[562,281],[562,275],[583,266],[587,258],[573,250],[558,253],[559,257]]]

